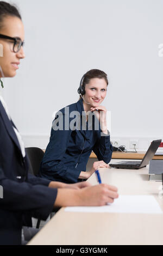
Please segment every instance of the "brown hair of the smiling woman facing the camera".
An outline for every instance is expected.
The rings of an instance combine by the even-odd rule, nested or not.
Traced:
[[[106,81],[106,84],[108,86],[108,77],[106,73],[99,69],[91,69],[87,71],[83,77],[83,81],[81,81],[82,82],[81,85],[85,88],[85,85],[89,83],[92,78],[100,78],[100,79],[103,78]],[[80,96],[80,99],[82,99],[81,96]]]

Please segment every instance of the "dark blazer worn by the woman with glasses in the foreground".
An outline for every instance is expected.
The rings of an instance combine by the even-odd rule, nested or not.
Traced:
[[[12,126],[0,101],[0,245],[20,245],[22,226],[31,227],[31,217],[46,220],[57,197],[49,180],[28,173]]]

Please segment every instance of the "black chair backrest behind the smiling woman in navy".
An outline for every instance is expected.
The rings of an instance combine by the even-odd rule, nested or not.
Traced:
[[[43,159],[44,152],[40,148],[26,148],[26,153],[29,159],[29,172],[35,176],[39,174],[40,163]]]

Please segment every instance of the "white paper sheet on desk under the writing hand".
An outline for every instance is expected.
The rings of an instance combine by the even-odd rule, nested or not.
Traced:
[[[162,210],[153,196],[119,196],[114,203],[105,206],[72,206],[66,207],[65,211],[162,214]]]

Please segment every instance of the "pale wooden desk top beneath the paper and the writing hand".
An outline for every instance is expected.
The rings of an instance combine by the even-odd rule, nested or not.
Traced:
[[[158,197],[161,182],[148,181],[148,166],[140,170],[101,168],[100,173],[103,182],[118,187],[119,194],[151,194],[163,210],[163,199]],[[97,184],[95,174],[89,181]],[[61,208],[28,244],[163,245],[162,230],[163,214],[91,214]]]

